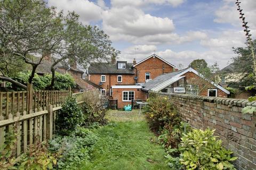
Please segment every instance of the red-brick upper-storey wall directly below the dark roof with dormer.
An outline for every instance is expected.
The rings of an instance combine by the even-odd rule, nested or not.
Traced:
[[[115,85],[132,85],[135,84],[134,74],[90,74],[90,81],[98,84],[101,82],[101,75],[106,75],[106,82],[100,86],[106,90],[106,94],[109,94],[111,86]],[[122,82],[117,82],[117,75],[122,75]]]

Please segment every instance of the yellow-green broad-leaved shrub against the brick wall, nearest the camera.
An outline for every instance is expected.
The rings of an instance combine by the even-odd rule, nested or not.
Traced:
[[[235,169],[230,163],[236,159],[233,153],[221,146],[221,140],[213,135],[214,130],[194,129],[181,138],[180,163],[186,169]]]

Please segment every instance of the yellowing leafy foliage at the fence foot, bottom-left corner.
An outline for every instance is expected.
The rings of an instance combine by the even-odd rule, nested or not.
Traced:
[[[47,142],[36,141],[35,144],[28,146],[25,153],[15,158],[17,133],[11,130],[5,137],[6,141],[0,153],[1,169],[46,170],[53,169],[57,164],[61,151],[51,154],[47,149]]]

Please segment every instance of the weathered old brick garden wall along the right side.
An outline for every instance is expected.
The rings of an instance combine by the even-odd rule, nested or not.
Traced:
[[[237,169],[256,169],[256,114],[243,114],[245,106],[255,106],[245,99],[166,94],[177,106],[183,121],[198,129],[216,129],[223,146],[238,157]]]

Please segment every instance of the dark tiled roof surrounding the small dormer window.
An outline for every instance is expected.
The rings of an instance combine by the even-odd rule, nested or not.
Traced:
[[[91,63],[89,74],[134,74],[133,63],[127,63],[126,69],[117,69],[117,64],[112,63]]]

